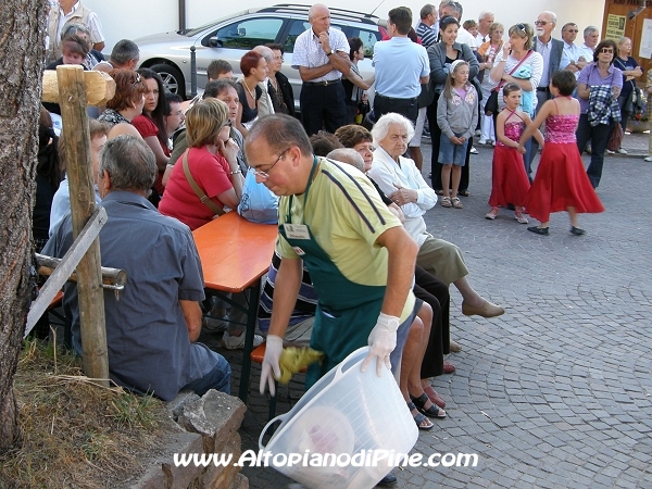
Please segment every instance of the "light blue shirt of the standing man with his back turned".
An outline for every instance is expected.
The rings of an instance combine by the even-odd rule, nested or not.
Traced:
[[[419,78],[430,73],[426,49],[408,37],[376,42],[373,65],[376,68],[376,93],[396,99],[418,97]]]

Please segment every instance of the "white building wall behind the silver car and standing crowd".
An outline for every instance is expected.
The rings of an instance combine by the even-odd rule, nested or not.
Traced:
[[[187,27],[197,27],[230,13],[281,3],[283,1],[247,0],[244,2],[228,2],[220,0],[206,2],[186,0]],[[285,1],[289,2],[289,0]],[[436,7],[439,4],[438,0],[430,0],[430,2]],[[83,3],[100,16],[104,37],[106,38],[105,53],[111,52],[113,45],[120,39],[136,39],[150,34],[179,28],[178,0],[83,0]],[[313,2],[298,1],[296,3],[312,4]],[[380,17],[385,17],[393,7],[408,5],[412,9],[415,23],[418,11],[424,3],[426,1],[383,1],[378,7],[378,0],[360,0],[352,7],[352,3],[348,0],[326,2],[330,8],[352,9],[360,12],[372,12],[377,8],[375,13]],[[557,28],[553,33],[553,36],[557,38],[561,37],[560,30],[566,22],[576,23],[580,29],[588,25],[600,28],[604,12],[603,0],[462,0],[462,5],[464,7],[463,21],[477,20],[480,11],[491,10],[496,13],[497,22],[501,22],[506,28],[519,22],[531,24],[540,12],[551,10],[557,15]],[[579,36],[580,38],[581,36]]]

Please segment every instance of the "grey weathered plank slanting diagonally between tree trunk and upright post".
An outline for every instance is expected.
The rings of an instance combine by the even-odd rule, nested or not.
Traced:
[[[104,208],[98,208],[90,220],[88,220],[88,223],[77,239],[75,239],[71,249],[65,253],[63,259],[61,259],[61,264],[57,267],[54,273],[50,275],[46,285],[41,287],[38,298],[32,303],[29,313],[27,314],[27,326],[25,327],[24,337],[29,335],[29,331],[32,331],[36,322],[43,315],[48,305],[52,302],[52,299],[57,297],[57,293],[59,293],[71,274],[73,274],[75,267],[84,258],[86,251],[92,244],[105,223],[106,211],[104,211]]]

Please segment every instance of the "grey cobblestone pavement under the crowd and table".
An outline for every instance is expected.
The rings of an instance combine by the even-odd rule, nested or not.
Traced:
[[[606,212],[580,216],[584,237],[568,233],[565,213],[552,216],[549,237],[527,233],[509,211],[485,220],[489,148],[472,156],[464,209],[428,211],[430,233],[464,251],[473,286],[506,313],[463,316],[451,288],[451,334],[463,350],[448,359],[456,372],[434,380],[448,417],[422,431],[413,451],[477,453],[479,463],[396,469],[399,488],[652,488],[652,164],[640,158],[647,138],[626,137],[640,147],[636,159],[606,158],[598,191]],[[429,162],[430,147],[423,149]],[[241,353],[226,354],[238,386]],[[243,449],[258,450],[267,419],[259,375],[254,365]],[[278,413],[301,396],[301,380],[281,389]],[[272,468],[243,474],[253,488],[291,484]]]

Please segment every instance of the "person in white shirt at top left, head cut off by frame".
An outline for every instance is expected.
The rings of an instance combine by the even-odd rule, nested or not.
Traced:
[[[80,1],[59,0],[59,5],[52,7],[48,16],[48,57],[46,64],[61,58],[61,32],[63,26],[71,22],[83,24],[90,30],[92,49],[100,52],[104,49],[104,35],[98,14],[84,7]]]

